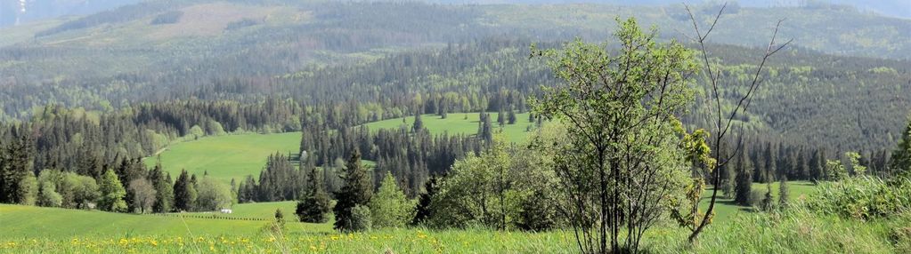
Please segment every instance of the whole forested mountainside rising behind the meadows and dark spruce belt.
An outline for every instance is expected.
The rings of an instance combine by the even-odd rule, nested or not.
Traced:
[[[554,82],[528,60],[530,44],[600,40],[614,17],[630,15],[665,38],[690,31],[678,5],[149,1],[0,30],[0,119],[25,119],[46,104],[113,112],[187,99],[356,102],[345,123],[415,107],[498,111]],[[764,44],[780,18],[793,50],[773,59],[742,119],[748,131],[837,150],[892,146],[911,109],[911,64],[898,60],[911,57],[911,21],[830,5],[731,7],[713,43]],[[761,50],[719,49],[724,74],[744,83]],[[685,120],[706,126],[699,105]]]

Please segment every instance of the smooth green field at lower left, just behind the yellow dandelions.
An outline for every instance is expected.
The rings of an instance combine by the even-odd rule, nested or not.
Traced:
[[[231,214],[191,212],[170,214],[125,214],[98,210],[68,210],[0,204],[0,239],[72,237],[255,235],[281,208],[290,232],[332,232],[332,223],[299,223],[294,201],[235,205]],[[220,219],[210,216],[215,215]],[[229,220],[250,218],[260,220]]]

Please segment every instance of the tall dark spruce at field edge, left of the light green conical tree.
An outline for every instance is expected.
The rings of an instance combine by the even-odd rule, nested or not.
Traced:
[[[358,230],[353,218],[353,209],[355,206],[366,207],[373,195],[373,182],[370,180],[369,172],[363,168],[361,162],[361,152],[355,150],[351,159],[345,164],[344,174],[342,176],[344,186],[342,190],[335,193],[337,202],[333,211],[335,213],[336,230]],[[361,221],[363,222],[363,221]]]

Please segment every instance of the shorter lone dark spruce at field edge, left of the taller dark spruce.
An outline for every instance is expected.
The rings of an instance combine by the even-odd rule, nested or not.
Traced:
[[[310,183],[307,184],[306,196],[297,202],[297,209],[294,210],[302,222],[324,223],[329,220],[326,213],[332,210],[332,204],[320,175],[315,167],[308,172]]]

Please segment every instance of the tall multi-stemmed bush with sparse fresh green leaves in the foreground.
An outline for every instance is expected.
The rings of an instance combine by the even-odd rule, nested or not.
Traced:
[[[692,54],[656,42],[657,31],[641,31],[635,19],[618,22],[617,52],[580,39],[533,49],[564,81],[533,104],[536,114],[567,123],[568,140],[551,152],[568,199],[562,214],[586,253],[638,250],[689,173],[675,114],[692,100]]]

